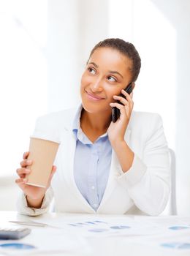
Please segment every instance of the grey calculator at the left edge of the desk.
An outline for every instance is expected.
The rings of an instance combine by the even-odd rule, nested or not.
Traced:
[[[31,233],[31,229],[24,227],[9,227],[9,228],[1,228],[0,227],[0,239],[20,239],[24,236],[27,236]]]

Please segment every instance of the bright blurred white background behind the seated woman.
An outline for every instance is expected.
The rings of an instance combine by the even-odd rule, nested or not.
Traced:
[[[91,48],[121,37],[142,59],[134,109],[161,114],[178,214],[190,214],[189,13],[189,0],[0,0],[1,208],[15,208],[15,170],[37,116],[77,105]]]

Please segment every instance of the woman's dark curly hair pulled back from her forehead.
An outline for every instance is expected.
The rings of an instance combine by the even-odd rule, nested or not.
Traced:
[[[132,61],[132,82],[137,80],[141,67],[141,59],[139,53],[131,42],[126,42],[119,38],[104,39],[94,46],[94,48],[91,50],[89,59],[97,48],[113,48],[129,58]]]

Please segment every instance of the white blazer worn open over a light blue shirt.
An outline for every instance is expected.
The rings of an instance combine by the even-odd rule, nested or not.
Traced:
[[[42,208],[28,208],[22,194],[18,200],[20,214],[45,213],[53,196],[58,212],[158,215],[164,211],[170,195],[170,163],[161,117],[133,111],[125,135],[134,151],[132,167],[123,173],[113,151],[107,187],[94,211],[77,189],[73,174],[76,140],[72,122],[76,111],[63,110],[37,119],[33,136],[61,143],[55,160],[57,170]]]

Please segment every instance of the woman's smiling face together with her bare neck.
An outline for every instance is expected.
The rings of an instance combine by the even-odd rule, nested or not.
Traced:
[[[120,94],[131,81],[131,62],[113,48],[102,46],[91,54],[81,79],[83,111],[80,125],[93,142],[110,126],[110,104],[115,102],[113,96]]]

